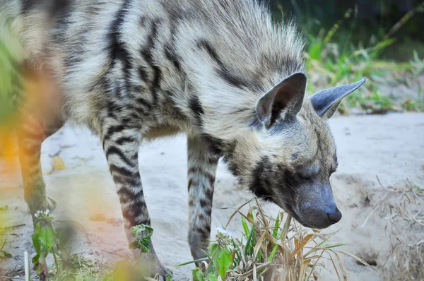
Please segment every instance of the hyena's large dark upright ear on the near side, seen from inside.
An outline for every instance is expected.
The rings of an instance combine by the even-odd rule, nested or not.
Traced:
[[[288,76],[263,95],[256,109],[259,120],[269,124],[269,121],[279,116],[283,116],[283,119],[296,116],[302,108],[306,81],[305,73],[298,72]]]

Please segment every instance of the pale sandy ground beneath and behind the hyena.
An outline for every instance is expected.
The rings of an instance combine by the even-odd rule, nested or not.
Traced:
[[[332,184],[343,219],[325,232],[340,229],[331,241],[349,243],[344,250],[377,264],[376,270],[372,270],[344,258],[350,280],[384,280],[382,267],[390,256],[389,237],[384,230],[387,221],[376,213],[364,227],[360,226],[382,197],[376,176],[383,185],[403,184],[407,177],[424,184],[424,114],[334,117],[330,124],[340,161]],[[66,169],[45,175],[45,181],[47,192],[57,199],[54,217],[60,219],[67,214],[81,224],[73,252],[83,253],[97,263],[124,257],[128,251],[119,201],[98,138],[80,129],[62,128],[43,144],[44,172],[50,171],[51,156],[57,153]],[[172,268],[175,280],[187,280],[192,269],[192,265],[173,267],[192,259],[186,238],[186,164],[184,136],[158,140],[141,148],[141,178],[155,229],[153,243],[161,261]],[[23,267],[25,249],[30,255],[33,253],[32,222],[23,201],[18,170],[17,160],[7,165],[0,162],[0,221],[6,218],[6,226],[25,224],[6,234],[9,241],[6,250],[13,258],[0,261],[0,276]],[[212,235],[216,227],[226,224],[232,213],[221,208],[237,208],[250,198],[252,194],[237,186],[225,166],[220,165],[213,200]],[[269,215],[279,211],[275,205],[264,203],[264,206]],[[237,220],[229,230],[232,233],[241,230]],[[337,280],[334,273],[326,270],[322,276],[324,280]]]

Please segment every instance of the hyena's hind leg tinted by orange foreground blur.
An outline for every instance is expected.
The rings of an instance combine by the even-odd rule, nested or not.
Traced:
[[[16,128],[24,198],[33,216],[34,226],[37,222],[35,217],[37,210],[53,210],[56,207],[56,201],[46,195],[40,155],[43,140],[58,131],[63,124],[64,121],[58,121],[54,126],[46,128],[37,116],[24,112]]]

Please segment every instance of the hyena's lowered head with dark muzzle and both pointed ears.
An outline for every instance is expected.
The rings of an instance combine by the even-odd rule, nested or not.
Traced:
[[[322,229],[341,220],[329,180],[337,167],[336,146],[326,121],[365,80],[305,97],[307,78],[295,73],[263,95],[254,140],[235,151],[249,167],[240,180],[305,227]]]

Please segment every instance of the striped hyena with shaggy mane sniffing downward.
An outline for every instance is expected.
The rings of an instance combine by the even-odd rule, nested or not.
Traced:
[[[341,219],[329,183],[337,158],[327,120],[365,78],[305,95],[300,35],[291,22],[273,23],[259,1],[0,4],[1,34],[17,35],[22,49],[16,62],[57,85],[54,102],[45,103],[57,109],[53,117],[52,110],[20,109],[16,131],[31,214],[54,205],[45,193],[40,147],[69,120],[100,136],[127,233],[151,224],[139,174],[142,140],[187,134],[195,259],[208,247],[221,158],[242,186],[302,225],[325,228]],[[146,263],[166,275],[151,249]]]

